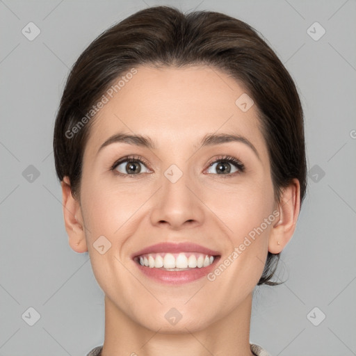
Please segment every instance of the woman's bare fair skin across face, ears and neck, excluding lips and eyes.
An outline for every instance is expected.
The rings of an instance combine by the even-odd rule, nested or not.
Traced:
[[[275,202],[257,106],[246,112],[236,106],[246,91],[227,74],[202,65],[136,69],[93,122],[80,198],[70,193],[68,177],[62,182],[70,246],[88,251],[105,294],[102,355],[252,355],[252,291],[267,252],[281,252],[293,235],[299,182],[294,179],[280,204]],[[97,154],[118,132],[149,136],[156,149],[113,143]],[[208,133],[244,136],[259,158],[241,142],[199,149]],[[118,168],[124,177],[110,170],[129,154],[148,162],[136,163],[141,168],[136,179],[128,177],[126,163]],[[236,175],[231,165],[228,176],[219,175],[217,165],[209,167],[225,154],[242,161],[245,171]],[[174,184],[164,175],[172,164],[183,173]],[[280,215],[213,282],[203,277],[182,285],[160,284],[140,273],[130,257],[155,243],[191,241],[218,250],[224,261],[273,211]],[[111,248],[100,254],[93,243],[103,235]],[[182,315],[175,325],[165,319],[172,307]]]

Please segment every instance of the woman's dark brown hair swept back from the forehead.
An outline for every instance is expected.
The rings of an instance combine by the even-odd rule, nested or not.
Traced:
[[[297,178],[301,206],[307,187],[303,112],[289,72],[245,22],[210,11],[184,14],[169,6],[145,8],[111,26],[70,70],[56,115],[54,159],[58,179],[69,177],[74,197],[80,196],[83,151],[95,120],[88,120],[87,113],[122,74],[138,65],[208,65],[242,83],[257,106],[275,201]],[[268,252],[257,285],[280,284],[271,281],[279,259],[280,254]]]

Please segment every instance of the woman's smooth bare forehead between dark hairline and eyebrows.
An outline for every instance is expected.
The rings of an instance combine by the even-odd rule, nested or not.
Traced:
[[[202,65],[136,70],[116,90],[104,93],[108,102],[92,119],[86,151],[97,152],[118,132],[149,136],[157,149],[195,146],[207,133],[221,132],[242,135],[262,156],[266,154],[258,109],[252,105],[242,111],[236,105],[236,99],[247,93],[228,74]]]

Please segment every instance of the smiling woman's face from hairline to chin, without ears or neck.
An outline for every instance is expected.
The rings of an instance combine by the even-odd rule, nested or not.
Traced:
[[[136,70],[90,128],[80,198],[86,246],[121,314],[150,330],[200,330],[243,305],[263,272],[277,220],[267,147],[257,107],[236,104],[246,92],[227,74]],[[144,257],[157,267],[141,266]],[[172,308],[177,325],[167,323]]]

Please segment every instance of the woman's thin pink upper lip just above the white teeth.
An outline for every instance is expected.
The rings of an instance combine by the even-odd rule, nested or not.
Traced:
[[[131,255],[132,258],[141,256],[142,254],[155,253],[155,252],[200,252],[204,254],[209,254],[210,256],[219,256],[218,251],[211,250],[210,248],[205,248],[204,246],[197,245],[196,243],[184,242],[184,243],[171,243],[163,242],[156,243],[156,245],[151,245],[143,250],[135,252]]]

